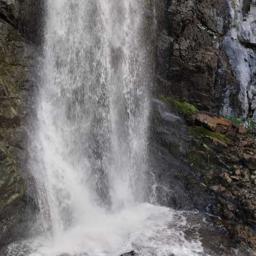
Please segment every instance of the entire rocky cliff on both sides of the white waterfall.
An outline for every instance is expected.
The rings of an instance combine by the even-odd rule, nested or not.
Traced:
[[[256,255],[255,126],[236,122],[256,121],[256,1],[155,6],[154,203],[211,214]],[[43,14],[42,0],[0,0],[0,248],[28,236],[38,210],[28,143]]]

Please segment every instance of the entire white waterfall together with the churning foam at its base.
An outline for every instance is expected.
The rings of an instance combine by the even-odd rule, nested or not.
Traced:
[[[47,1],[37,234],[8,255],[207,255],[181,213],[144,203],[153,30],[153,0]]]

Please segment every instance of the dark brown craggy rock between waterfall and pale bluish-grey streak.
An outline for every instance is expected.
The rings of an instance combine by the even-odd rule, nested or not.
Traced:
[[[218,36],[228,26],[226,1],[165,1],[159,22],[157,69],[160,88],[175,98],[214,108]]]

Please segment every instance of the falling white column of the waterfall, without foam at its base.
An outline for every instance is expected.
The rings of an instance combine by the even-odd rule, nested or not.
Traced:
[[[37,177],[44,173],[40,198],[56,232],[96,205],[144,200],[151,81],[143,2],[48,0]]]

